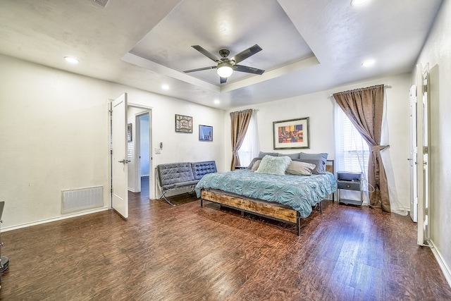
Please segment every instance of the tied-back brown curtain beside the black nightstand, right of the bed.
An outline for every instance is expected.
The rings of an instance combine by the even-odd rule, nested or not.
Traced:
[[[381,150],[388,147],[381,145],[383,94],[383,85],[377,85],[335,93],[333,97],[371,148],[368,182],[374,189],[369,189],[370,205],[390,212],[387,176],[381,157]]]

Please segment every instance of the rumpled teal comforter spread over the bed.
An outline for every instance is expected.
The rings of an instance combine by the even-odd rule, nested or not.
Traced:
[[[311,176],[274,176],[238,170],[204,175],[196,185],[197,197],[202,189],[209,188],[285,204],[306,218],[312,206],[337,190],[337,180],[329,172]]]

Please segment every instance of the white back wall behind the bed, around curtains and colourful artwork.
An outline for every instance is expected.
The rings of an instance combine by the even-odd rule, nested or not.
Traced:
[[[393,163],[393,173],[396,180],[397,195],[402,207],[409,209],[409,86],[410,75],[397,75],[366,82],[354,83],[333,90],[266,102],[242,109],[258,109],[260,148],[262,152],[327,152],[328,159],[335,159],[335,141],[333,130],[334,101],[330,94],[371,85],[391,85],[387,93],[387,122],[390,136],[390,156]],[[224,113],[226,122],[225,141],[226,166],[230,168],[232,148],[230,145],[230,111]],[[273,150],[273,121],[283,121],[293,118],[309,117],[310,148],[309,149],[277,149]]]

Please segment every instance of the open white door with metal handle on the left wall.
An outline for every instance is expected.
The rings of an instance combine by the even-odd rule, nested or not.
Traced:
[[[128,218],[127,94],[111,102],[111,207]]]

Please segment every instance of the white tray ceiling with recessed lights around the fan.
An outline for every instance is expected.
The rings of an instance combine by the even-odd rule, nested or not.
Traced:
[[[230,109],[409,72],[441,2],[0,0],[0,54]],[[215,69],[183,73],[216,65],[197,44],[229,57],[259,44],[240,65],[266,72],[235,71],[226,84]]]

